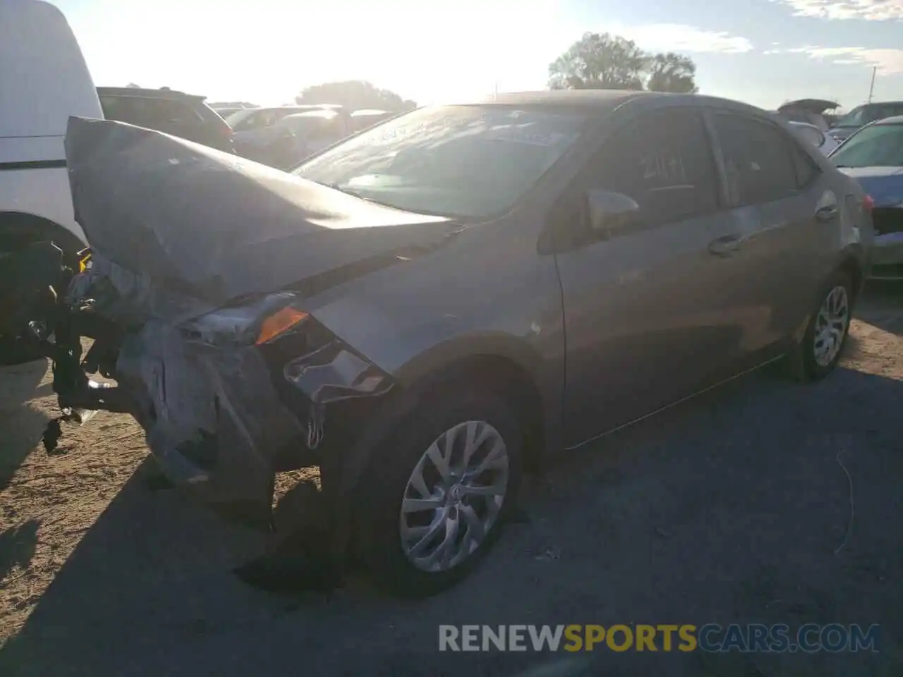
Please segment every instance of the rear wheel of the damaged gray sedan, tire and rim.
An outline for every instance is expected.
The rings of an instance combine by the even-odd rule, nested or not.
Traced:
[[[805,336],[785,358],[785,371],[796,380],[815,381],[840,362],[852,320],[852,282],[842,271],[824,285]]]

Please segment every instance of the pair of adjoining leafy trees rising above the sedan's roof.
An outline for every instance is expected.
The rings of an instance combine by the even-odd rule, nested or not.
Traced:
[[[583,33],[549,64],[553,89],[643,89],[696,92],[696,65],[682,54],[650,54],[610,33]]]

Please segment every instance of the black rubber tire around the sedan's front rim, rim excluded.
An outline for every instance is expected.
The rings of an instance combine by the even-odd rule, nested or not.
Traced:
[[[397,432],[375,450],[357,494],[355,531],[358,553],[379,587],[407,598],[436,594],[466,577],[498,541],[516,507],[523,465],[523,430],[510,399],[473,382],[440,385],[424,396],[414,412],[396,426]],[[505,443],[508,475],[504,501],[484,540],[466,559],[448,570],[421,570],[402,548],[399,518],[407,483],[433,441],[469,421],[488,422]]]

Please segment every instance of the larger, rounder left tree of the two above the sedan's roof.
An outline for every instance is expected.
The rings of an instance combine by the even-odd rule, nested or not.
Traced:
[[[609,33],[583,33],[549,65],[553,89],[642,89],[648,55],[636,42]]]

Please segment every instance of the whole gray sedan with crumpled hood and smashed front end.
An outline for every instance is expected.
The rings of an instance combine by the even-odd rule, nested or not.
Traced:
[[[20,259],[64,411],[133,414],[264,528],[275,473],[320,466],[330,561],[405,594],[476,565],[544,452],[778,359],[827,375],[868,266],[861,188],[707,97],[427,107],[293,175],[108,121],[66,146],[90,252],[50,285],[52,247]]]

